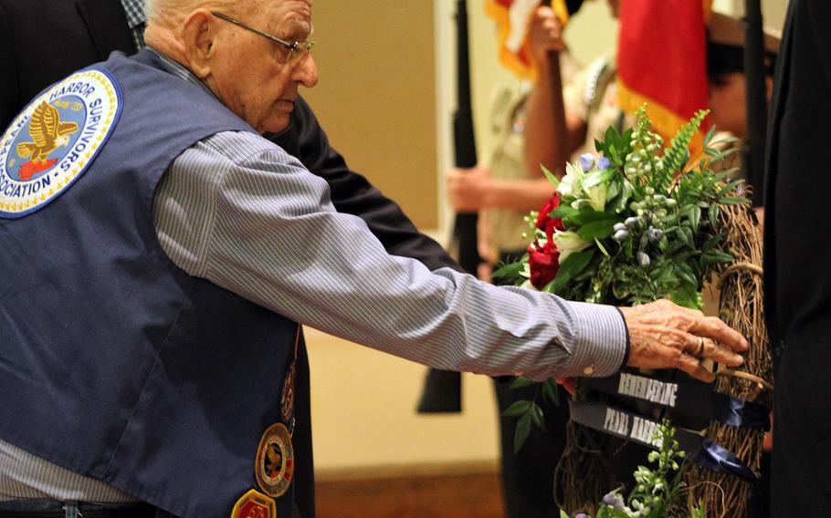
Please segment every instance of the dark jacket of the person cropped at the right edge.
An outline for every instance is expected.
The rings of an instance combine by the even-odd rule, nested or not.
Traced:
[[[831,3],[791,0],[773,94],[764,234],[772,516],[831,514]]]

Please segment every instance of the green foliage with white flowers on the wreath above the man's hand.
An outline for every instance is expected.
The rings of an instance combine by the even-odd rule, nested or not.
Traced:
[[[747,203],[735,194],[742,181],[729,180],[733,170],[710,168],[731,154],[725,146],[734,140],[712,143],[715,131],[710,129],[704,158],[689,161],[689,143],[706,115],[699,111],[665,149],[643,107],[636,112],[635,128],[623,133],[609,128],[604,140],[595,140],[599,156],[567,164],[556,184],[560,206],[549,214],[563,222],[565,230],[553,241],[564,259],[544,291],[613,306],[669,298],[700,309],[700,292],[713,266],[733,261],[721,248],[720,207]],[[537,216],[531,212],[526,221],[530,240],[542,245],[547,236],[535,227]],[[564,235],[573,250],[560,249],[564,243],[558,238],[565,240]],[[582,246],[574,246],[574,239]],[[527,285],[532,267],[526,255],[494,277],[501,284]],[[514,438],[517,450],[531,425],[542,422],[537,408],[534,403],[514,410],[521,424]]]

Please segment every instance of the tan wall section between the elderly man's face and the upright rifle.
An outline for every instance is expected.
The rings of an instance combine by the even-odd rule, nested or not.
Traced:
[[[321,82],[301,93],[354,171],[437,227],[433,5],[315,0]]]

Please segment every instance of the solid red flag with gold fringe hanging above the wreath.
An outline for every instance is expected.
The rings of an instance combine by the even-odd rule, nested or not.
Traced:
[[[647,103],[653,130],[665,140],[697,110],[707,108],[705,20],[710,4],[710,0],[620,3],[618,103],[628,113]],[[702,129],[707,130],[705,125]]]

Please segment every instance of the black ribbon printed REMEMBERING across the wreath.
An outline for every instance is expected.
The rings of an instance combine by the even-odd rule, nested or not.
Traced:
[[[770,430],[770,409],[734,398],[694,380],[650,378],[642,373],[619,372],[608,378],[581,378],[581,388],[589,388],[627,399],[647,401],[682,414],[717,420],[735,428]]]

